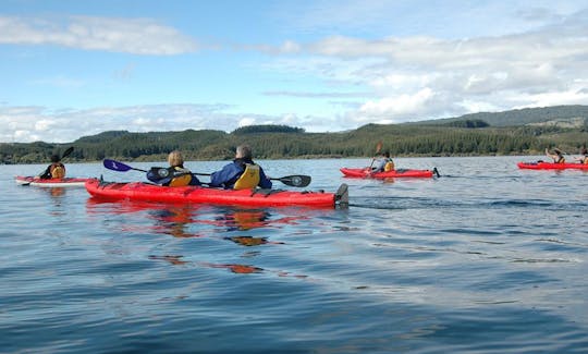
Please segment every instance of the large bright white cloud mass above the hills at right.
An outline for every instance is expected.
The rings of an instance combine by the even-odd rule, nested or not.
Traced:
[[[588,10],[527,15],[541,26],[465,39],[333,36],[266,68],[370,88],[372,98],[344,114],[345,125],[587,103],[588,85],[577,78],[588,77]]]

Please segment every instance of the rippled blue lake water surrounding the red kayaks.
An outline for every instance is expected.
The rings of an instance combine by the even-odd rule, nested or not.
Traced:
[[[388,182],[261,161],[347,183],[336,210],[100,203],[0,166],[0,352],[586,353],[588,173],[516,168],[538,158],[396,159],[442,176]]]

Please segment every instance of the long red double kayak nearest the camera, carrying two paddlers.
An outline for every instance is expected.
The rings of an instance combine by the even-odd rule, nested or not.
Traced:
[[[341,184],[336,193],[294,192],[281,190],[221,190],[204,186],[169,187],[144,182],[86,181],[86,190],[96,198],[112,200],[143,200],[163,203],[193,203],[241,205],[253,207],[335,207],[348,203],[347,185]]]

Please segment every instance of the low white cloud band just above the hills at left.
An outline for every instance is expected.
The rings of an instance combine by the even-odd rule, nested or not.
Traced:
[[[225,105],[148,105],[49,110],[42,107],[1,107],[2,143],[44,141],[69,143],[105,131],[161,132],[233,131],[250,124],[283,124],[280,117],[226,113]]]

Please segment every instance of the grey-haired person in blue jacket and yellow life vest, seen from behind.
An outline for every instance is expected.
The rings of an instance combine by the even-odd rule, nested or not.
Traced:
[[[248,145],[240,145],[233,162],[211,174],[210,186],[222,186],[225,190],[249,190],[259,186],[270,190],[271,181],[266,176],[264,169],[253,161],[252,148]]]

